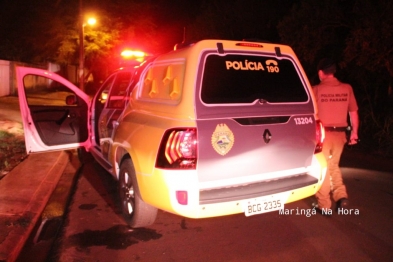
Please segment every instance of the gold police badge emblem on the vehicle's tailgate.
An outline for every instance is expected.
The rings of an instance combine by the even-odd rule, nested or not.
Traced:
[[[226,124],[218,124],[212,135],[212,146],[217,153],[224,156],[231,150],[235,137]]]

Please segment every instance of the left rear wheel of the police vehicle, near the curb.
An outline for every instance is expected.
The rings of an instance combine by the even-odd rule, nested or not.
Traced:
[[[119,194],[122,214],[130,227],[146,227],[154,223],[157,208],[143,202],[135,169],[131,159],[125,159],[120,165]]]

